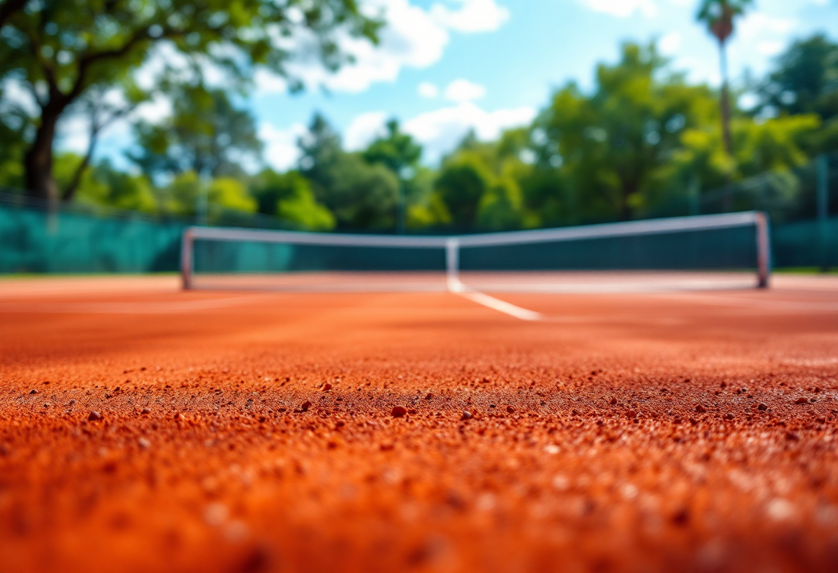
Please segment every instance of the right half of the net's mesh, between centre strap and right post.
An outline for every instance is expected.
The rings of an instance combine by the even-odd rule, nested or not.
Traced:
[[[463,245],[459,279],[484,292],[753,287],[753,225],[642,235]]]

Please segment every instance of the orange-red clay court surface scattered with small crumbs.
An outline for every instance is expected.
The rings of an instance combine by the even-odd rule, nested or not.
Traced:
[[[835,570],[836,277],[498,297],[0,281],[0,570]]]

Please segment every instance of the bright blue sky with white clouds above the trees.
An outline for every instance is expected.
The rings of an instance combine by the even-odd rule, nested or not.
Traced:
[[[308,90],[292,95],[266,74],[246,105],[256,116],[264,161],[292,167],[295,141],[321,111],[360,148],[396,117],[425,147],[426,163],[450,151],[468,129],[478,137],[531,120],[558,86],[590,88],[597,62],[613,61],[626,40],[659,41],[660,50],[692,80],[717,85],[718,54],[694,21],[697,0],[362,0],[387,24],[377,48],[349,42],[356,64],[328,75],[316,63],[292,65]],[[730,44],[732,76],[763,74],[791,40],[816,31],[838,39],[838,0],[756,0]],[[325,85],[328,93],[320,87]],[[158,101],[141,110],[155,119]],[[74,130],[77,133],[84,130]],[[114,126],[102,146],[118,154],[127,126]],[[65,138],[80,147],[80,137]]]

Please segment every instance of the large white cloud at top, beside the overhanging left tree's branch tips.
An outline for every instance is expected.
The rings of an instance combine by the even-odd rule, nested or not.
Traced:
[[[313,37],[297,34],[290,42],[278,40],[297,54],[287,69],[308,89],[322,85],[332,91],[360,93],[375,83],[396,81],[402,68],[422,70],[436,64],[451,39],[451,30],[489,32],[499,28],[509,16],[508,11],[497,6],[494,0],[446,2],[458,6],[452,9],[435,3],[430,10],[425,10],[411,4],[410,0],[365,0],[362,4],[365,12],[381,13],[385,20],[377,46],[365,39],[344,35],[339,44],[344,53],[353,57],[354,63],[332,73],[318,61]],[[284,92],[287,83],[262,71],[256,75],[256,90],[260,94]]]

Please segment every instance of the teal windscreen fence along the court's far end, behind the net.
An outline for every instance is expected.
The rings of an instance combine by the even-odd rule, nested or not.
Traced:
[[[0,202],[0,273],[137,273],[178,271],[180,241],[186,224],[153,220],[142,215],[97,215],[62,210],[49,214],[31,205]],[[838,218],[825,222],[802,220],[771,226],[773,266],[838,267]],[[669,268],[732,268],[753,261],[751,253],[730,245],[748,243],[742,230],[701,235],[680,234],[665,238],[637,237],[558,249],[556,245],[527,247],[510,245],[494,249],[463,249],[463,270],[540,268],[649,268],[649,261],[665,261]],[[597,256],[590,256],[587,246]],[[207,249],[201,251],[200,249]],[[508,249],[509,252],[499,252]],[[209,252],[212,250],[213,252]],[[631,256],[626,258],[626,253]],[[727,261],[726,253],[733,257]],[[202,271],[212,266],[230,269],[231,261],[241,271],[285,268],[317,271],[323,268],[364,271],[389,266],[405,271],[439,271],[444,268],[437,249],[401,250],[312,247],[306,245],[196,245],[196,265]],[[375,256],[373,256],[375,255]],[[501,256],[502,255],[502,256]],[[712,256],[711,265],[702,257]],[[744,256],[747,261],[739,261]],[[614,257],[618,257],[614,259]]]

